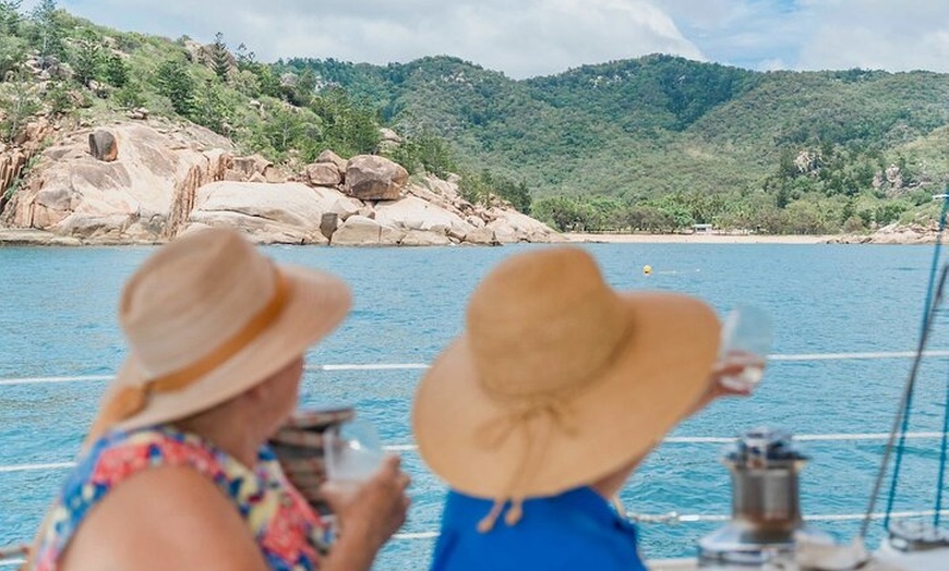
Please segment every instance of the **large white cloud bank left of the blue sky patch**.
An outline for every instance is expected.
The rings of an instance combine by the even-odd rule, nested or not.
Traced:
[[[209,41],[220,31],[264,60],[387,63],[457,56],[513,77],[584,63],[675,53],[705,59],[650,0],[64,0],[121,29]]]

